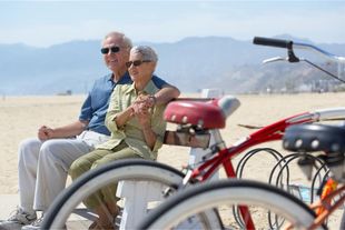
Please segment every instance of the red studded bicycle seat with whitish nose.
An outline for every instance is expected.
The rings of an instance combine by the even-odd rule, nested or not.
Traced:
[[[198,126],[203,129],[225,128],[226,118],[239,107],[234,97],[209,101],[177,100],[170,102],[164,113],[168,122]]]

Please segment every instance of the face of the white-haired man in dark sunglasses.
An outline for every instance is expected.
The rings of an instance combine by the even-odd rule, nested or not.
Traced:
[[[107,67],[112,72],[117,72],[126,69],[129,48],[122,42],[122,38],[109,37],[102,42],[102,56]]]

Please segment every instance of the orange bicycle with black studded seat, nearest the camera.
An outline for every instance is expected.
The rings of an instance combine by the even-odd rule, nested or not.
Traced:
[[[179,222],[203,210],[218,206],[245,206],[249,211],[263,208],[267,212],[267,222],[263,220],[249,229],[275,227],[282,229],[326,228],[325,220],[345,202],[345,128],[327,124],[296,124],[286,129],[283,146],[286,150],[299,153],[299,166],[313,166],[304,161],[306,153],[317,154],[331,169],[332,177],[323,186],[321,200],[309,207],[285,190],[249,180],[221,180],[196,184],[169,198],[142,221],[139,229],[170,229]],[[310,169],[310,167],[309,167]],[[341,184],[337,187],[337,184]],[[336,200],[334,200],[336,199]],[[317,214],[316,214],[317,213]],[[255,217],[247,212],[243,218]],[[344,218],[344,217],[343,217]],[[285,224],[285,226],[284,226]]]

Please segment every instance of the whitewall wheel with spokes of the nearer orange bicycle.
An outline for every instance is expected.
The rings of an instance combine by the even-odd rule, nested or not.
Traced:
[[[248,208],[243,219],[250,213],[256,229],[285,229],[290,224],[294,229],[306,229],[315,217],[305,203],[284,190],[256,181],[230,179],[196,184],[178,192],[152,210],[137,229],[175,229],[209,209],[219,211],[226,229],[252,229],[238,226],[231,217],[234,206]]]

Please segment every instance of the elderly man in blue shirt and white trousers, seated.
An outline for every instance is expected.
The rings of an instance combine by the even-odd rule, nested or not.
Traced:
[[[108,33],[101,42],[101,53],[111,73],[96,80],[81,107],[79,119],[59,128],[42,126],[38,138],[20,143],[20,202],[16,213],[0,222],[0,230],[39,229],[42,218],[37,219],[36,211],[45,212],[65,189],[70,164],[97,144],[109,140],[110,132],[105,126],[109,97],[116,86],[131,83],[126,67],[131,47],[130,39],[125,34]],[[152,82],[160,90],[141,103],[161,104],[179,96],[178,89],[158,77]]]

